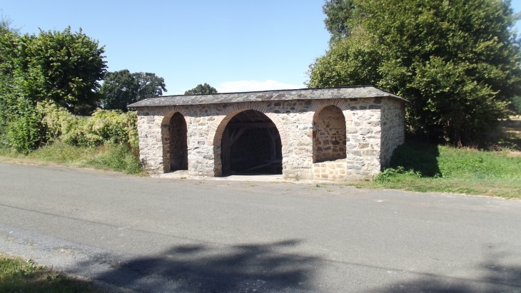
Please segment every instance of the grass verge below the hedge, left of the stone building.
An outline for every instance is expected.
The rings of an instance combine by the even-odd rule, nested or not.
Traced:
[[[101,170],[113,170],[127,174],[143,175],[141,162],[126,145],[106,144],[97,148],[74,147],[56,142],[34,150],[28,155],[16,153],[14,150],[0,150],[0,156],[6,158],[51,163],[71,167],[87,167]]]

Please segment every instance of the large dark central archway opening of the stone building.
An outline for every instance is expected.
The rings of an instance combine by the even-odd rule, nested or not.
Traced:
[[[229,120],[221,138],[223,175],[282,174],[282,143],[267,115],[243,110]]]

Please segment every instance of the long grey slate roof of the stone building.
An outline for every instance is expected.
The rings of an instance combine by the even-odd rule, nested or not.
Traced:
[[[296,90],[250,91],[242,93],[211,93],[207,95],[178,95],[146,98],[128,105],[128,108],[240,103],[257,101],[322,100],[328,98],[376,98],[388,97],[407,100],[380,90],[375,86],[349,86],[338,88],[301,88]]]

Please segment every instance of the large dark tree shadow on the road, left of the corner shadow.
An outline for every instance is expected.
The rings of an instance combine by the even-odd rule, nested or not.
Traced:
[[[114,265],[96,279],[148,292],[308,292],[319,259],[284,252],[298,242],[175,246]]]

